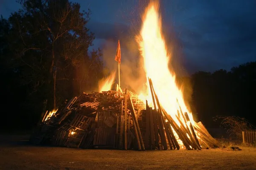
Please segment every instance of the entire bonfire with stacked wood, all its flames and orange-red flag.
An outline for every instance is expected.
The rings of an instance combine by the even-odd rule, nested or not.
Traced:
[[[161,32],[159,3],[143,14],[137,42],[143,57],[147,91],[140,95],[119,85],[111,91],[115,72],[99,82],[99,92],[82,94],[64,108],[45,114],[32,141],[67,147],[108,146],[119,149],[198,149],[218,147],[192,113],[177,86]],[[118,43],[117,55],[121,55]],[[118,60],[119,57],[119,60]],[[121,56],[116,56],[120,64]]]

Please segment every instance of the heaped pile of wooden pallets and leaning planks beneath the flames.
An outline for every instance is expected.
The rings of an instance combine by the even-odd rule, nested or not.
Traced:
[[[177,149],[218,147],[201,122],[192,125],[186,112],[176,118],[161,106],[151,79],[154,109],[125,90],[92,92],[71,99],[63,108],[46,113],[31,136],[35,144],[112,149]],[[185,122],[185,124],[183,123]]]

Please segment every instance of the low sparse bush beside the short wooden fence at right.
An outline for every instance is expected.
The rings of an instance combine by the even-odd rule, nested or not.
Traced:
[[[242,131],[255,128],[245,118],[239,116],[216,116],[215,121],[217,120],[221,120],[220,126],[234,139],[242,139]]]

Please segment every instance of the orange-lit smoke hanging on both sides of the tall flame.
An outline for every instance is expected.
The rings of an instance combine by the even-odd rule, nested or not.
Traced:
[[[136,41],[136,36],[139,35],[142,20],[140,15],[144,13],[148,1],[139,1],[136,7],[130,8],[129,15],[123,18],[128,21],[128,26],[116,26],[116,36],[113,39],[105,41],[103,46],[103,61],[110,72],[116,71],[115,83],[118,83],[118,63],[114,60],[118,40],[121,46],[121,64],[120,64],[120,85],[122,90],[128,88],[136,94],[146,92],[145,71],[143,69],[143,58],[140,56],[139,45]],[[163,9],[163,8],[161,8]],[[169,70],[176,74],[178,87],[183,91],[184,100],[189,107],[191,101],[192,86],[188,79],[188,74],[183,65],[182,44],[178,42],[175,36],[175,30],[172,26],[162,23],[162,31],[166,41],[166,47],[171,59],[169,61]],[[185,78],[184,78],[185,77]],[[190,110],[190,109],[189,109]]]

